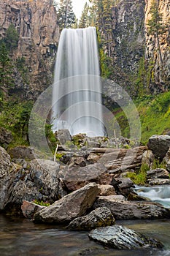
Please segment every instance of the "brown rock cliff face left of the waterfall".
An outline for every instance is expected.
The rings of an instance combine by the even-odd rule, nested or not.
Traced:
[[[15,25],[20,36],[12,58],[24,57],[28,80],[15,70],[15,91],[27,99],[36,98],[53,83],[53,65],[58,45],[59,28],[53,0],[0,0],[0,37],[9,25]]]

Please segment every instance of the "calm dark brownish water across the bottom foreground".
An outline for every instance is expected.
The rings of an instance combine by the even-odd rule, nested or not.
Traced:
[[[1,256],[169,256],[170,220],[123,221],[125,225],[147,236],[158,238],[166,246],[163,251],[120,251],[106,249],[89,241],[88,232],[71,232],[55,225],[35,225],[27,219],[0,215]]]

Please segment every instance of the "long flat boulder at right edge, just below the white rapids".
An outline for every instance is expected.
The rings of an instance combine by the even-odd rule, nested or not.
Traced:
[[[115,200],[114,196],[98,197],[93,209],[107,207],[115,219],[161,219],[170,218],[170,209],[159,203]]]

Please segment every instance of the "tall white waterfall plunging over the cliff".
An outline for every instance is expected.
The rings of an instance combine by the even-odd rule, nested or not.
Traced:
[[[63,29],[53,85],[53,131],[104,136],[96,28]]]

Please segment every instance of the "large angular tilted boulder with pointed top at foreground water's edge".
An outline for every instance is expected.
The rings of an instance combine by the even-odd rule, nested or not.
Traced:
[[[97,184],[90,183],[36,213],[34,221],[58,224],[70,222],[85,214],[93,205],[99,192]]]

